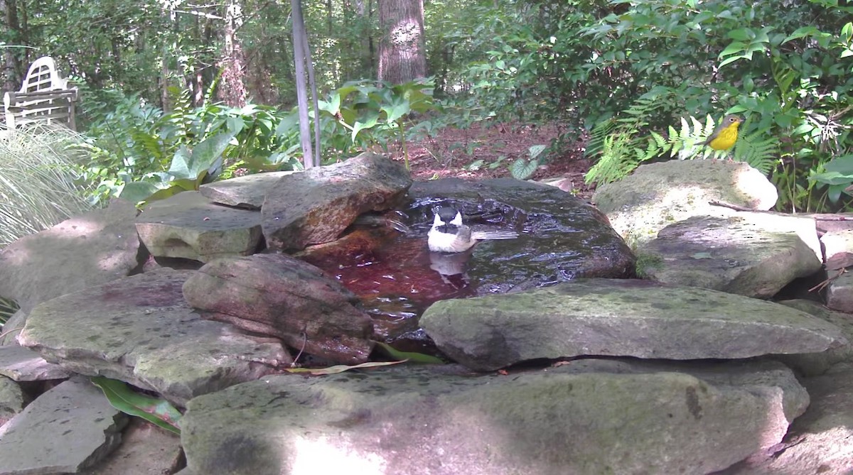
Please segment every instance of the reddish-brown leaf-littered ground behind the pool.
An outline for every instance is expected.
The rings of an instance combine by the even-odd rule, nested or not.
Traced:
[[[408,144],[409,169],[414,180],[451,176],[466,180],[508,177],[512,176],[508,169],[510,163],[529,157],[531,146],[549,146],[560,132],[554,125],[514,123],[474,125],[468,129],[444,128],[435,136]],[[585,136],[567,140],[560,153],[550,154],[531,179],[564,179],[560,188],[589,199],[595,186],[583,183],[583,175],[592,166],[591,161],[583,157],[585,146]],[[399,146],[389,152],[394,160],[404,161]]]

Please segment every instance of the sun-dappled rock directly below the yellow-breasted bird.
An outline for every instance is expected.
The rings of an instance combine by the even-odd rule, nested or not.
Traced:
[[[670,160],[641,165],[633,175],[599,187],[592,201],[634,245],[690,216],[729,214],[711,202],[770,209],[777,197],[767,177],[746,163]]]

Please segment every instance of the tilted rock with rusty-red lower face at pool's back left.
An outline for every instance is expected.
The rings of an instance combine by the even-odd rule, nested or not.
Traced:
[[[304,249],[333,241],[358,215],[393,208],[411,184],[403,165],[370,152],[283,176],[261,207],[267,246]]]

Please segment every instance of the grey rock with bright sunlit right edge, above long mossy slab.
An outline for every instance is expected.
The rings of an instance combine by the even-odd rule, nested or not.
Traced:
[[[693,216],[639,244],[637,255],[643,278],[761,299],[822,266],[815,220],[763,213]]]

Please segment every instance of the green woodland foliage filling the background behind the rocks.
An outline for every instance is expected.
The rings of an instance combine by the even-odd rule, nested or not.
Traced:
[[[483,121],[556,123],[589,134],[587,180],[640,163],[711,157],[698,144],[726,113],[746,118],[730,155],[767,173],[779,209],[849,208],[853,7],[836,0],[433,0],[424,83],[375,82],[375,2],[305,0],[327,162]],[[81,89],[90,201],[160,196],[235,173],[299,166],[289,3],[230,0],[18,2],[23,64],[50,54]],[[227,6],[250,97],[218,98]],[[371,10],[373,6],[373,10]],[[393,87],[392,87],[393,86]],[[200,152],[194,152],[195,149]],[[547,150],[495,166],[517,177]],[[720,156],[722,158],[722,156]],[[479,163],[478,166],[490,166]],[[171,191],[168,191],[171,190]]]

